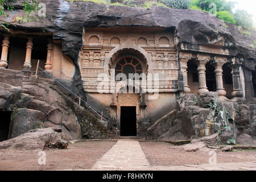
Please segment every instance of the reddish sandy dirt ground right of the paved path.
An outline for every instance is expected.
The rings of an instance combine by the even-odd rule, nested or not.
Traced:
[[[166,142],[140,142],[142,150],[151,166],[183,166],[185,164],[208,164],[209,148],[195,152],[185,152],[181,146]],[[213,150],[214,151],[214,150]],[[216,151],[217,163],[256,161],[256,150]]]

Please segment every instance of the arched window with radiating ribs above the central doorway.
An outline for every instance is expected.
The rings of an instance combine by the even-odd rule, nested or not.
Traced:
[[[142,65],[133,57],[125,57],[119,60],[117,65],[115,65],[115,78],[117,78],[119,73],[125,74],[127,79],[129,78],[129,73],[138,73],[138,75],[141,75]]]

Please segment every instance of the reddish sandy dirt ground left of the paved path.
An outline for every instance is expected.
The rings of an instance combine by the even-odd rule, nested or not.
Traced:
[[[0,170],[89,169],[116,142],[88,141],[69,144],[66,150],[48,149],[46,165],[39,166],[39,151],[0,150]]]

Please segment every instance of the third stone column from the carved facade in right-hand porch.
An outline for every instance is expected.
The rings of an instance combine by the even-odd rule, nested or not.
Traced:
[[[222,75],[222,66],[226,63],[225,57],[215,57],[215,76],[216,76],[216,92],[218,93],[218,97],[225,97],[226,91],[223,87],[223,75]]]

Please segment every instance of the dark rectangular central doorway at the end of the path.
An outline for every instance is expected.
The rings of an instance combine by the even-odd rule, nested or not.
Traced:
[[[137,136],[136,107],[121,107],[120,135],[121,137]]]

